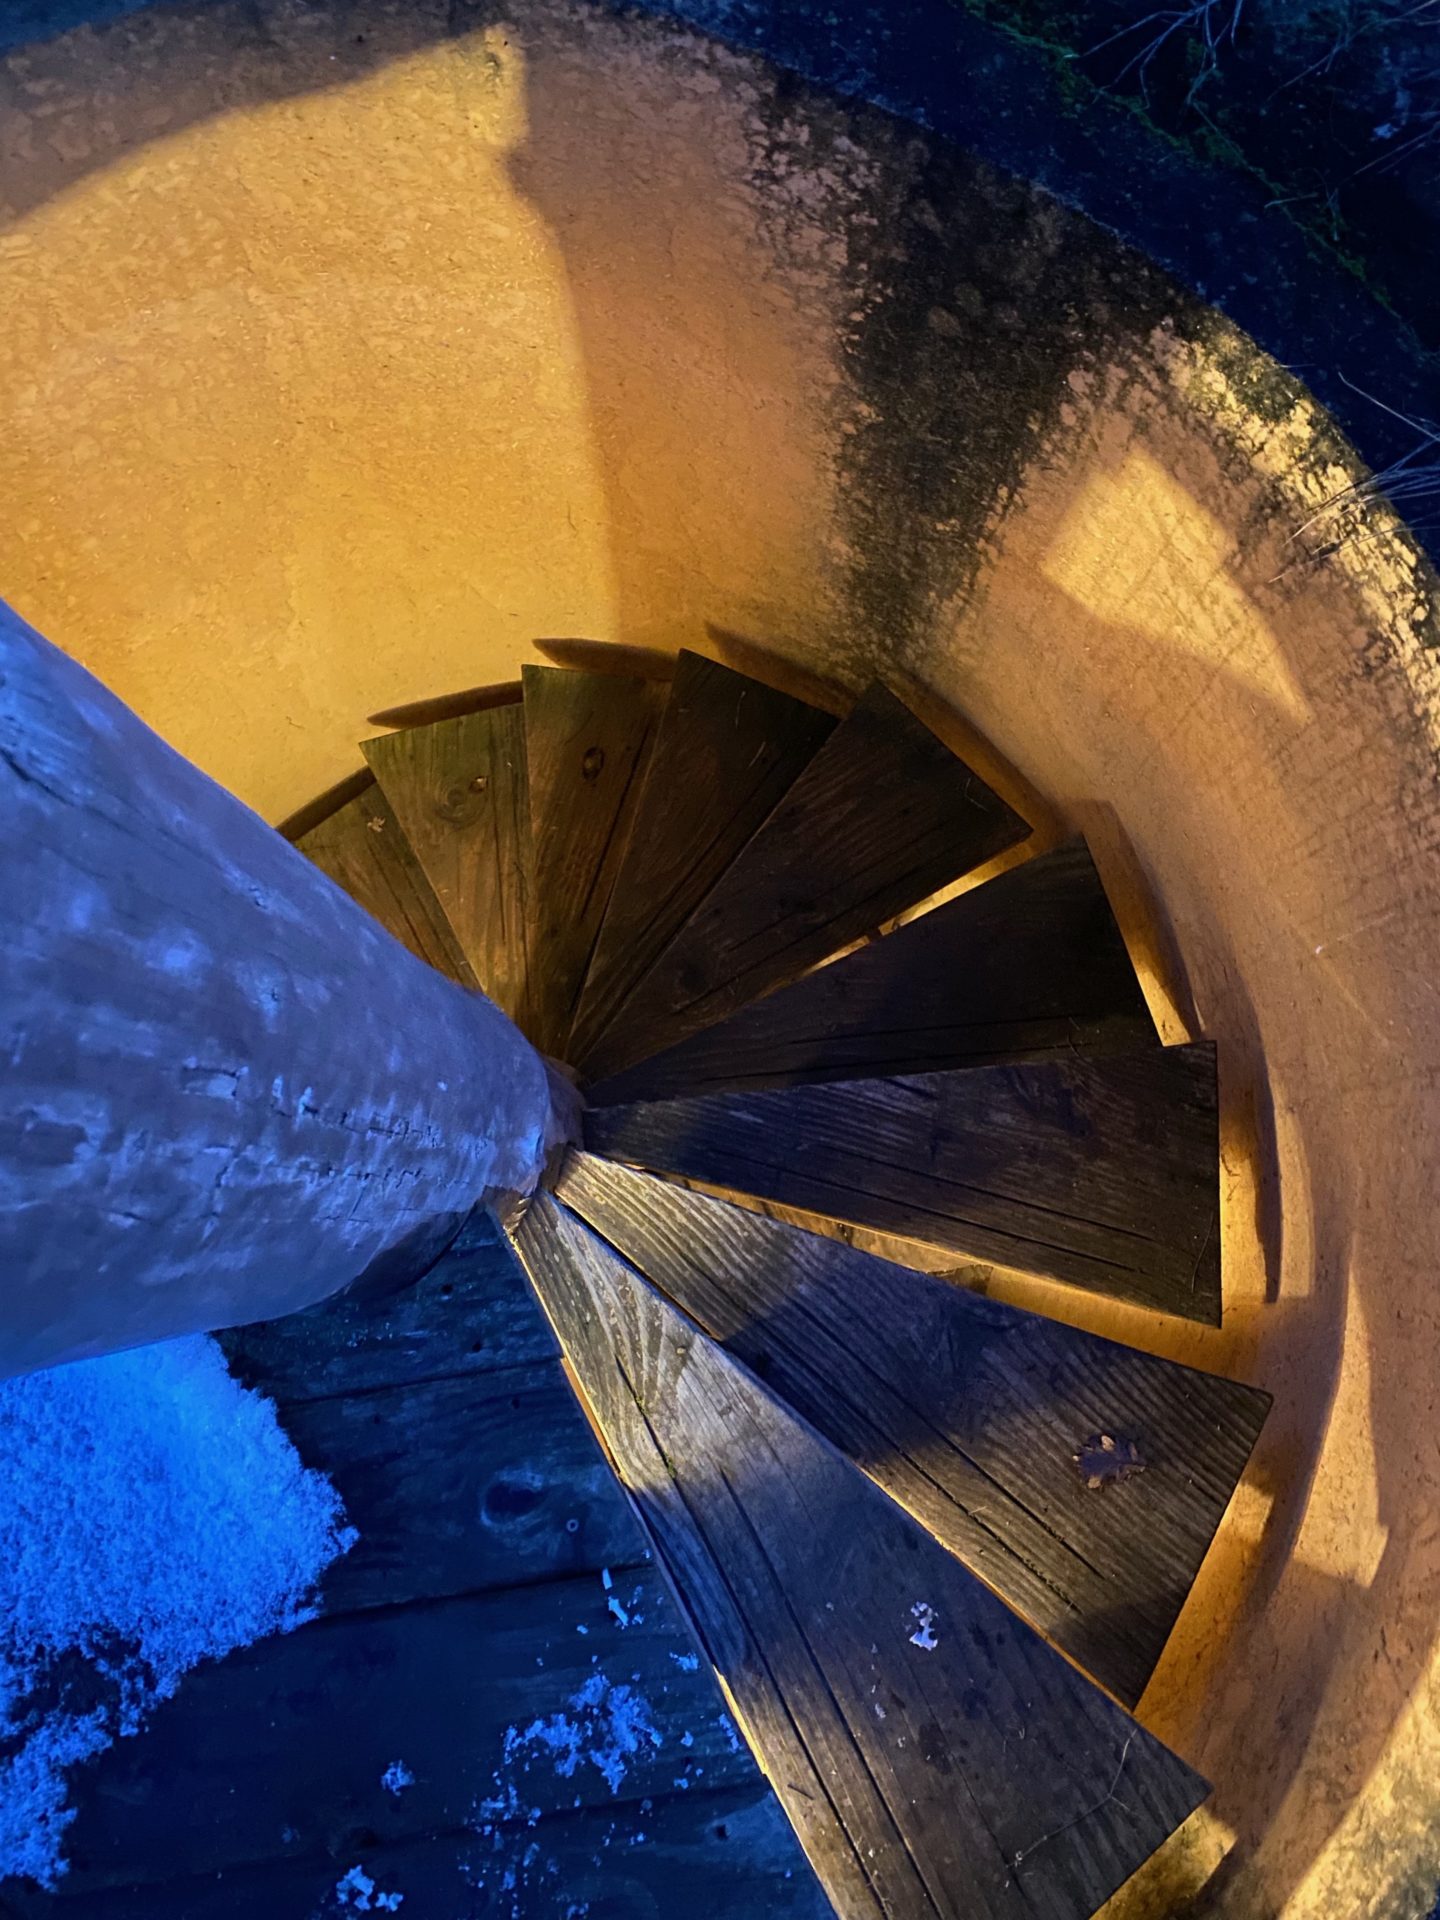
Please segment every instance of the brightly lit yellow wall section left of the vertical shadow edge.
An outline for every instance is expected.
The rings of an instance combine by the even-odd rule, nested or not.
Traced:
[[[0,580],[269,818],[365,714],[612,634],[524,60],[445,19],[156,10],[0,61]]]

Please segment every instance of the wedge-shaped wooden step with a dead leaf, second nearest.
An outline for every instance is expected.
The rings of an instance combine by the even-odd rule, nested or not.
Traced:
[[[1269,1394],[574,1154],[561,1200],[1127,1705]]]

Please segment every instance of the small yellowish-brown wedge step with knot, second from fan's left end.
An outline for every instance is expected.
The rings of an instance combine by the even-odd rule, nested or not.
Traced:
[[[524,708],[438,720],[361,743],[476,981],[526,1012],[530,799]]]

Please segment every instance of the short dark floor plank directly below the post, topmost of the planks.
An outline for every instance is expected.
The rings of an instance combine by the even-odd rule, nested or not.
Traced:
[[[230,1371],[280,1405],[530,1367],[559,1352],[509,1242],[486,1215],[411,1286],[378,1298],[336,1294],[219,1338]]]

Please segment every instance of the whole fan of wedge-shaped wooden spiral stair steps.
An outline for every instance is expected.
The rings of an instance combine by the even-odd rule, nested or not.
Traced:
[[[1127,1709],[1267,1396],[764,1208],[1219,1323],[1213,1048],[1079,839],[925,906],[1029,828],[885,685],[555,653],[298,845],[578,1079],[507,1229],[833,1910],[1087,1916],[1206,1797]]]

